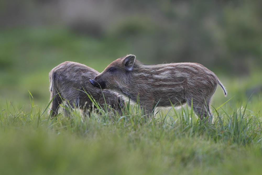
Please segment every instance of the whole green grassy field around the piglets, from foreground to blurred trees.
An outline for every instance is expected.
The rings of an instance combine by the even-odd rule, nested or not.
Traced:
[[[262,82],[260,70],[245,77],[215,72],[228,97],[217,88],[212,124],[187,106],[162,109],[150,119],[131,105],[123,116],[100,111],[82,118],[74,110],[70,118],[61,113],[52,120],[53,67],[77,61],[101,72],[132,48],[60,29],[6,30],[0,36],[1,174],[261,173],[261,92],[249,94]]]

